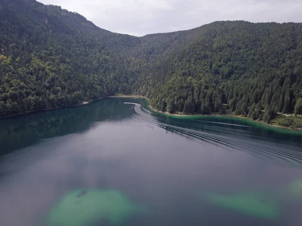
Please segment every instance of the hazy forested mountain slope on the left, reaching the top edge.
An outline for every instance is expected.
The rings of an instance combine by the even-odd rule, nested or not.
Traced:
[[[107,78],[123,72],[123,51],[138,38],[36,1],[0,5],[1,116],[79,104],[118,89]]]

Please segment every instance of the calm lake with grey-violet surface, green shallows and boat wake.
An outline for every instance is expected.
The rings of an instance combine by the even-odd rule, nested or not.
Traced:
[[[0,150],[0,225],[302,225],[299,131],[110,98],[1,120]]]

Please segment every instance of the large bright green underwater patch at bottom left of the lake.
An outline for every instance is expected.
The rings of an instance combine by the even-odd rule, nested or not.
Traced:
[[[118,225],[142,209],[115,190],[74,190],[51,210],[47,225],[88,226],[100,221]]]

